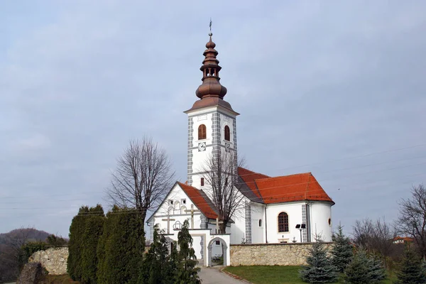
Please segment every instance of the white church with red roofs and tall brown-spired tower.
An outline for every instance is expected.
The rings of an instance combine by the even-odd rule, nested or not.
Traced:
[[[224,265],[230,265],[231,244],[310,242],[315,241],[315,234],[320,234],[324,241],[332,241],[334,202],[312,173],[271,177],[238,165],[239,113],[224,100],[227,90],[219,82],[218,53],[212,33],[209,37],[200,68],[202,84],[195,92],[198,99],[184,111],[188,116],[187,180],[175,182],[146,221],[151,227],[151,239],[157,225],[168,239],[177,241],[187,219],[194,240],[192,246],[204,266],[211,265],[212,256],[222,251]],[[212,177],[217,174],[206,167],[210,160],[224,160],[219,157],[230,157],[226,160],[232,166],[221,168],[219,173],[227,171],[234,177],[230,179],[231,187],[238,202],[225,231],[219,229],[224,224],[223,210],[217,205],[217,190],[212,186]]]

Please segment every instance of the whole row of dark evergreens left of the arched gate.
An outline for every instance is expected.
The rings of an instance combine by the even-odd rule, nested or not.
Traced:
[[[67,272],[82,284],[200,283],[197,258],[185,221],[178,242],[154,228],[145,253],[143,218],[137,209],[80,207],[70,226]]]

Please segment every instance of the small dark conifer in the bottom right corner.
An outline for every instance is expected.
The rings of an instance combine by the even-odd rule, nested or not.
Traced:
[[[421,284],[426,283],[425,271],[422,261],[414,251],[406,249],[404,258],[400,264],[400,271],[397,273],[398,284]]]

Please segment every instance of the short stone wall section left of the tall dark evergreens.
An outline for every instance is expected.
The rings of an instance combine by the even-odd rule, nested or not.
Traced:
[[[39,262],[51,275],[67,273],[68,248],[50,248],[45,251],[36,251],[28,262]]]

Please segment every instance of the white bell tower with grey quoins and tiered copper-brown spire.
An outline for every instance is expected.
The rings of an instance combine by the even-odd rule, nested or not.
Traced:
[[[199,99],[191,109],[184,111],[188,116],[187,183],[197,188],[204,186],[205,164],[210,157],[230,153],[236,160],[236,116],[239,114],[224,100],[227,90],[220,84],[222,67],[212,35],[210,32],[200,67],[202,84],[195,91]]]

